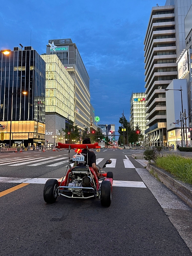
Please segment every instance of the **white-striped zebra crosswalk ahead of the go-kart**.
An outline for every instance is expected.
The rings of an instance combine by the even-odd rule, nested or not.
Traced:
[[[125,155],[126,154],[126,155]],[[132,161],[130,161],[130,156],[127,153],[124,153],[124,156],[122,159],[116,159],[116,158],[110,158],[112,161],[111,164],[107,164],[106,168],[136,168]],[[97,158],[96,164],[100,164],[100,167],[102,167],[106,160],[108,158]],[[26,166],[31,166],[31,167],[36,167],[40,165],[45,165],[47,167],[56,167],[59,165],[68,165],[68,157],[64,155],[58,155],[58,156],[49,156],[49,157],[40,157],[39,155],[36,156],[17,156],[17,157],[4,157],[0,158],[0,168],[1,166],[4,167],[4,165],[7,166],[21,166],[21,165],[26,165]],[[71,164],[73,165],[73,164]]]

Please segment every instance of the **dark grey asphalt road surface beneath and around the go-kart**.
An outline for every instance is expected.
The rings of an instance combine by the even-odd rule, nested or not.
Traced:
[[[21,179],[30,182],[28,178],[61,178],[67,163],[60,163],[67,161],[67,154],[1,153],[0,176],[4,178],[0,177],[0,191],[21,184]],[[96,154],[104,158],[100,166],[108,159],[116,159],[115,167],[105,169],[114,173],[114,180],[140,184],[145,180],[138,173],[146,170],[128,150],[101,149]],[[125,168],[130,163],[135,168]],[[0,197],[0,255],[192,255],[146,180],[146,188],[144,183],[143,187],[114,186],[108,208],[101,206],[99,198],[60,196],[55,204],[46,204],[44,184],[40,179],[36,183]],[[187,206],[182,207],[191,212]]]

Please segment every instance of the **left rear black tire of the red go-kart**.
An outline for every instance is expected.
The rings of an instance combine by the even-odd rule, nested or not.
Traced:
[[[46,181],[43,191],[43,198],[46,203],[52,204],[57,200],[56,188],[59,187],[58,180],[49,179]]]

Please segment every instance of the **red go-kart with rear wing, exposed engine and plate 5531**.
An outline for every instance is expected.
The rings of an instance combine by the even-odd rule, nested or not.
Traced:
[[[68,148],[69,163],[66,172],[60,180],[49,179],[44,186],[44,201],[46,203],[54,203],[58,196],[65,196],[68,198],[100,198],[101,205],[110,206],[111,192],[113,185],[113,172],[105,173],[102,168],[106,164],[111,164],[111,160],[107,160],[102,168],[96,164],[100,179],[92,167],[87,164],[78,166],[81,162],[84,163],[84,156],[81,154],[82,148],[100,148],[98,143],[95,144],[62,144],[58,142],[58,148]],[[76,148],[76,154],[70,159],[70,149]],[[72,163],[78,163],[77,166],[72,167]]]

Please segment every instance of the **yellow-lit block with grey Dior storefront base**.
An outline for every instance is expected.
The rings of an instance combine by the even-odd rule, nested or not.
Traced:
[[[56,54],[41,55],[46,63],[45,72],[45,141],[50,146],[58,138],[64,138],[65,123],[74,122],[75,86]],[[57,138],[53,138],[53,136]],[[65,140],[60,140],[64,143]]]

